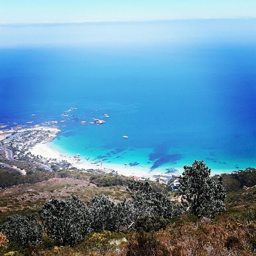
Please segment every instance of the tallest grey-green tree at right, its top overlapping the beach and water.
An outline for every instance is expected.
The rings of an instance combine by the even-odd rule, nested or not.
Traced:
[[[180,178],[179,192],[182,195],[182,205],[188,213],[201,218],[212,218],[214,214],[225,210],[225,189],[222,185],[222,176],[216,184],[210,177],[211,169],[204,161],[197,161],[192,166],[184,166]]]

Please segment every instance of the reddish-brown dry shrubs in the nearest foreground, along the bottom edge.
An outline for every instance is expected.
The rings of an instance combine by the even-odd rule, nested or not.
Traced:
[[[247,256],[256,255],[256,222],[220,217],[192,221],[183,216],[158,232],[94,233],[73,248],[42,245],[34,256]],[[109,235],[108,235],[109,234]]]

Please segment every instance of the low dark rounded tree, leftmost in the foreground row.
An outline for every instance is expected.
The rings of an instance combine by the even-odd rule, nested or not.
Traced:
[[[43,237],[43,227],[34,214],[8,216],[2,230],[9,241],[23,248],[41,243]]]

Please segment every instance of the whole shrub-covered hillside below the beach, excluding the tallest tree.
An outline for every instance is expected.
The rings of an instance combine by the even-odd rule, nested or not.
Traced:
[[[226,210],[208,218],[182,209],[181,195],[170,192],[170,184],[91,170],[45,172],[34,167],[28,170],[26,163],[24,167],[26,176],[0,169],[0,256],[256,255],[254,168],[223,175]],[[216,184],[218,179],[212,178]],[[69,234],[66,240],[54,231],[55,221],[49,229],[57,209],[62,209],[63,220],[70,215],[63,222],[70,221],[62,231]],[[11,233],[16,222],[18,228]],[[28,238],[31,232],[42,237]],[[82,237],[73,239],[72,232]],[[24,242],[23,236],[31,242]]]

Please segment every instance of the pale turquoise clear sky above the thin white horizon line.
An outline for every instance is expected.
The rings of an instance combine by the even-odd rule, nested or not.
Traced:
[[[255,0],[1,0],[0,23],[256,17]]]

